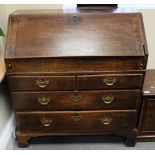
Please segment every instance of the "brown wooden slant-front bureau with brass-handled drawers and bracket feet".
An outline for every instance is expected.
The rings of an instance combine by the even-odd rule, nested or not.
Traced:
[[[39,136],[117,135],[134,146],[147,57],[139,12],[12,13],[5,63],[18,145]]]

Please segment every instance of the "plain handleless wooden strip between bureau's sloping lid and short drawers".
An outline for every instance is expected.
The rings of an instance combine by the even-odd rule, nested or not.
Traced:
[[[5,60],[5,62],[8,73],[127,71],[146,68],[143,57],[29,58]]]

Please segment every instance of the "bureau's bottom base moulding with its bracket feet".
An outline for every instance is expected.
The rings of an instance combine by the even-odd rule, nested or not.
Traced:
[[[35,137],[44,137],[44,136],[89,136],[89,135],[111,135],[111,136],[119,136],[123,138],[124,144],[128,147],[134,147],[136,144],[136,133],[137,131],[133,130],[130,132],[81,132],[81,133],[51,133],[51,132],[24,132],[16,129],[16,139],[19,147],[28,147],[31,141],[31,138]]]

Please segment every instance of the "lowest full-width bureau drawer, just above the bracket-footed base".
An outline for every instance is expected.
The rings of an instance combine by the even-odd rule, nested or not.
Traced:
[[[20,131],[105,132],[135,128],[136,111],[17,112]]]

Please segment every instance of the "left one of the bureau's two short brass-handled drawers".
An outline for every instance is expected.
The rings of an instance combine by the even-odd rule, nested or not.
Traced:
[[[74,90],[74,76],[9,76],[11,91]]]

